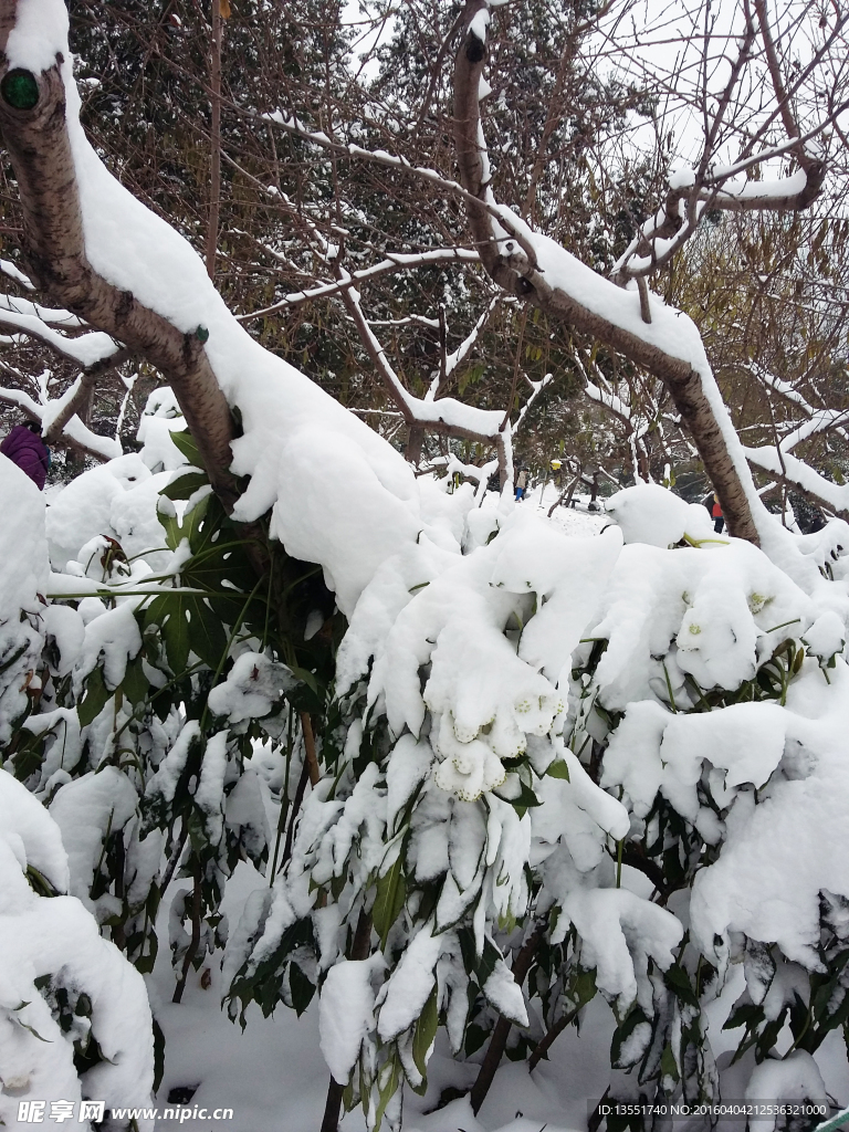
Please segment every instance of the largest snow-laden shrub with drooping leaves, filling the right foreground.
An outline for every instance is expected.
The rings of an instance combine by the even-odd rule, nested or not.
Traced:
[[[363,592],[344,749],[225,969],[233,1014],[319,989],[325,1057],[371,1126],[398,1126],[439,1026],[474,1056],[506,1018],[535,1063],[595,994],[611,1097],[717,1099],[702,1010],[731,962],[740,1055],[774,1057],[787,1021],[808,1054],[843,1024],[849,858],[825,839],[849,672],[821,610],[846,599],[683,507],[692,537],[625,547],[514,514],[462,557],[420,540]]]

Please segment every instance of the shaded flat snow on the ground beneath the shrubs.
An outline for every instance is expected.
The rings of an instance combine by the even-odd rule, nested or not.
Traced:
[[[638,877],[637,877],[638,880]],[[224,908],[231,926],[239,919],[248,894],[267,882],[247,864],[237,866],[228,884]],[[168,915],[163,912],[162,915]],[[234,1110],[232,1121],[191,1121],[194,1132],[316,1132],[327,1092],[328,1072],[319,1050],[318,1003],[312,1001],[298,1019],[283,1006],[264,1019],[251,1005],[242,1032],[220,1009],[221,972],[211,970],[208,989],[201,972],[189,978],[182,1004],[172,1005],[174,976],[168,950],[160,950],[156,969],[148,979],[151,1003],[165,1032],[166,1069],[157,1094],[162,1110],[168,1095],[178,1087],[196,1088],[191,1106]],[[723,1069],[723,1097],[743,1099],[754,1061],[744,1058],[727,1067],[739,1040],[739,1030],[722,1031],[730,1004],[744,987],[741,964],[730,977],[721,1002],[707,1006],[711,1045]],[[468,1097],[434,1109],[449,1086],[471,1088],[478,1072],[474,1063],[454,1061],[440,1034],[428,1069],[428,1091],[404,1096],[404,1132],[568,1132],[586,1127],[588,1113],[601,1098],[609,1080],[609,1050],[614,1032],[610,1009],[600,997],[586,1010],[580,1036],[574,1029],[557,1039],[550,1061],[529,1074],[525,1062],[505,1062],[475,1117]],[[777,1046],[787,1052],[789,1028]],[[849,1101],[849,1065],[842,1037],[834,1031],[816,1055],[825,1087],[841,1104]],[[160,1120],[156,1132],[175,1132],[180,1121]],[[687,1132],[684,1124],[677,1125]],[[723,1123],[723,1132],[743,1132]],[[355,1108],[341,1124],[341,1132],[367,1132],[362,1110]],[[695,1125],[692,1130],[695,1132]]]

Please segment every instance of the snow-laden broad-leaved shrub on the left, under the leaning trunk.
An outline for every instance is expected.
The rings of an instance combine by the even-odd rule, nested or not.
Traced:
[[[165,412],[168,392],[151,398],[154,411],[143,420],[153,451],[145,444],[140,456],[84,473],[48,508],[61,572],[50,584],[43,497],[0,460],[10,481],[3,496],[20,500],[0,534],[9,539],[2,600],[10,654],[0,723],[7,770],[49,805],[62,831],[69,891],[139,970],[155,960],[156,914],[170,880],[192,878],[194,895],[178,898],[171,916],[185,983],[226,937],[220,904],[234,864],[243,857],[264,867],[269,855],[254,745],[283,745],[300,773],[293,730],[300,711],[324,711],[317,681],[331,674],[315,675],[310,664],[303,683],[278,659],[285,651],[298,669],[295,661],[327,651],[324,637],[302,640],[316,609],[299,585],[314,571],[283,554],[275,563],[300,626],[291,645],[289,626],[269,619],[267,590],[259,592],[232,523],[192,466],[188,434],[151,429],[161,417],[182,428]],[[148,464],[162,463],[165,440],[171,470],[152,475]],[[123,533],[128,556],[118,516],[130,515],[126,503],[137,491]]]

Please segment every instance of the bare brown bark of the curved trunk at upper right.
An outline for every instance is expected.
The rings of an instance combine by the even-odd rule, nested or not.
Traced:
[[[492,281],[511,294],[598,338],[663,381],[717,490],[729,532],[757,546],[760,540],[746,492],[702,388],[700,375],[687,362],[608,321],[566,291],[552,288],[537,271],[533,256],[529,256],[526,249],[523,249],[522,256],[515,252],[511,255],[512,241],[506,241],[503,254],[495,241],[490,215],[483,204],[487,183],[483,180],[478,100],[487,44],[469,26],[477,12],[486,7],[487,0],[469,0],[466,5],[466,31],[454,71],[454,144],[461,183],[481,201],[477,206],[468,200],[466,208],[469,225],[483,267]]]

